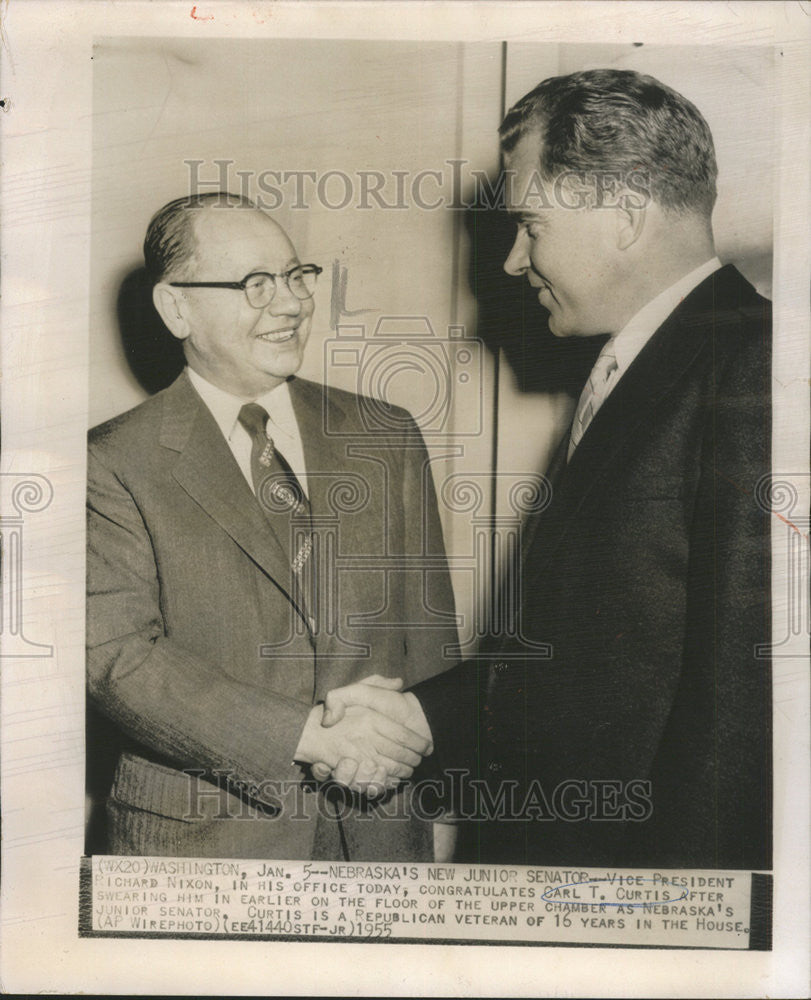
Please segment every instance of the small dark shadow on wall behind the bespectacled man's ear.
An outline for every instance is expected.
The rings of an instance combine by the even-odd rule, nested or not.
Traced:
[[[124,354],[138,384],[150,395],[171,385],[186,363],[183,346],[158,315],[144,268],[124,278],[116,311]]]

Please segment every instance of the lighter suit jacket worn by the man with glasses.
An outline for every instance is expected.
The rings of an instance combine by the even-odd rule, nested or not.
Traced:
[[[185,373],[90,433],[87,672],[121,736],[113,853],[340,858],[337,809],[353,859],[430,858],[429,825],[403,818],[407,791],[329,801],[293,761],[331,688],[373,672],[415,683],[456,642],[425,447],[405,411],[370,437],[359,397],[290,389],[325,598],[316,634]]]

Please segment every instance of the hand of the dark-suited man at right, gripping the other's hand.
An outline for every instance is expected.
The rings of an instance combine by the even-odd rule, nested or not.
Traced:
[[[403,682],[399,678],[372,674],[357,684],[334,688],[325,699],[322,726],[335,727],[345,720],[348,713],[356,712],[362,707],[386,716],[413,735],[422,737],[425,741],[423,756],[427,756],[434,750],[431,730],[420,703],[413,694],[401,694],[399,689],[402,686]],[[334,767],[329,767],[328,763],[315,762],[313,775],[319,780],[326,780],[331,775],[339,784],[346,785],[353,791],[365,792],[369,796],[379,795],[387,788],[396,787],[402,778],[410,777],[411,774],[403,774],[401,769],[392,769],[383,760],[361,760],[351,755],[344,757]]]

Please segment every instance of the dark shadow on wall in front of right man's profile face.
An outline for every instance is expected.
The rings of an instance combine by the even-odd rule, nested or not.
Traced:
[[[496,191],[497,181],[478,187]],[[504,271],[515,239],[515,223],[503,207],[480,200],[465,212],[470,239],[471,291],[478,304],[478,336],[496,354],[501,348],[515,374],[517,388],[527,393],[568,392],[579,396],[607,337],[559,339],[547,325],[549,313],[538,302],[526,278]]]

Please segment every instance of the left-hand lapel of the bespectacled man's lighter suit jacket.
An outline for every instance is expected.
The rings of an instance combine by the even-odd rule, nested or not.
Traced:
[[[160,443],[179,453],[175,480],[292,600],[285,551],[185,373],[164,397]]]

